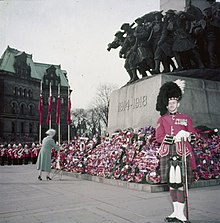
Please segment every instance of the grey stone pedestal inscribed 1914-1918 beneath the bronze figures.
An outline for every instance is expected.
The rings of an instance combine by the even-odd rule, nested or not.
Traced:
[[[189,114],[194,127],[220,127],[219,74],[219,71],[211,73],[209,70],[159,74],[114,91],[110,96],[109,133],[130,127],[156,127],[159,118],[159,112],[156,111],[159,89],[163,83],[176,79],[186,81],[179,112]]]

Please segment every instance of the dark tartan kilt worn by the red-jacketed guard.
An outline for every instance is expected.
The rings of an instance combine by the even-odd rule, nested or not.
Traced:
[[[174,155],[177,155],[176,146],[175,144],[172,144],[169,146],[169,154],[167,156],[160,157],[160,182],[161,183],[168,183],[169,171],[170,171],[170,157]],[[193,172],[190,165],[190,155],[186,157],[186,163],[187,163],[188,184],[191,184],[194,181],[194,177],[193,177]]]

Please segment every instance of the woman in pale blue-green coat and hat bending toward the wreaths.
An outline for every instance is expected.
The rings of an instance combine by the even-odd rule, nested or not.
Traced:
[[[38,180],[42,180],[42,171],[47,172],[46,179],[51,180],[50,172],[51,172],[51,150],[55,148],[56,150],[60,150],[60,148],[54,142],[54,135],[56,131],[54,129],[49,129],[46,136],[42,141],[42,148],[37,158],[37,169],[39,170]]]

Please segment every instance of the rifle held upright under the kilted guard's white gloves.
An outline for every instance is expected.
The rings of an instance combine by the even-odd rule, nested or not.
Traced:
[[[188,188],[188,178],[187,178],[187,163],[186,163],[186,143],[184,137],[181,138],[181,147],[182,147],[182,172],[183,172],[183,192],[185,197],[185,210],[186,210],[186,219],[189,221],[189,188]]]

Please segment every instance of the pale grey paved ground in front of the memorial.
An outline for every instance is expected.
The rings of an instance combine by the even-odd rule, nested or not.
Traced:
[[[55,176],[37,180],[35,165],[0,166],[0,223],[162,223],[168,192],[149,193]],[[220,223],[220,186],[190,190],[191,223]]]

